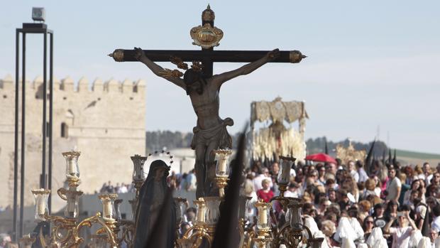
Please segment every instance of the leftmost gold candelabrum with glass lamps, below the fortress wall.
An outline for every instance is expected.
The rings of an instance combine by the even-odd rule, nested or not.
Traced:
[[[79,245],[84,242],[84,238],[80,236],[82,227],[90,228],[92,225],[99,225],[100,227],[96,233],[92,234],[92,241],[94,241],[94,243],[97,243],[99,237],[99,241],[105,242],[109,247],[119,247],[123,242],[125,242],[128,247],[131,247],[133,244],[134,223],[129,220],[121,220],[119,204],[122,200],[116,199],[117,194],[99,195],[103,206],[102,214],[97,212],[97,214],[92,217],[79,220],[79,197],[83,194],[81,190],[77,189],[81,182],[79,180],[78,166],[80,154],[79,151],[62,153],[62,156],[64,156],[66,160],[68,188],[58,189],[57,194],[62,200],[67,202],[64,217],[50,215],[48,212],[48,196],[50,190],[32,190],[35,197],[35,221],[45,221],[51,224],[50,237],[44,237],[42,232],[39,234],[41,245],[51,248],[79,247]]]

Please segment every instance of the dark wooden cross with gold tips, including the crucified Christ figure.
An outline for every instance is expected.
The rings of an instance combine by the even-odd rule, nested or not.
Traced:
[[[196,153],[194,168],[197,178],[197,198],[215,194],[215,188],[212,185],[216,175],[215,154],[212,151],[219,148],[231,149],[232,146],[231,137],[226,131],[226,126],[233,125],[233,120],[219,117],[218,96],[221,84],[238,75],[246,75],[268,62],[299,63],[303,58],[306,58],[297,50],[280,51],[279,55],[277,50],[214,50],[214,46],[219,45],[219,41],[223,37],[223,31],[214,26],[214,18],[214,11],[211,11],[208,5],[208,8],[202,13],[202,26],[194,27],[190,31],[194,44],[200,45],[202,50],[143,50],[143,53],[139,54],[141,53],[140,50],[116,49],[109,54],[119,62],[141,61],[156,75],[182,87],[189,95],[194,112],[197,115],[197,126],[193,129],[192,142],[192,149]],[[185,73],[197,75],[196,79],[192,78],[193,76],[188,76],[185,80],[185,75],[183,80],[180,77],[177,78],[182,75],[182,72],[178,70],[177,77],[174,75],[171,75],[171,77],[161,75],[161,73],[168,73],[170,70],[164,70],[154,62],[177,62],[179,68],[187,69],[187,65],[182,65],[179,59],[172,57],[179,58],[182,62],[193,62],[193,65],[194,61],[202,63],[204,77],[199,77],[199,71],[195,67],[188,69]],[[213,76],[214,62],[247,62],[249,64]],[[197,65],[197,63],[195,64]]]

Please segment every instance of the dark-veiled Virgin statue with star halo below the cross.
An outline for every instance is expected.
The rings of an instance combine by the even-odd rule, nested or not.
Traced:
[[[155,160],[151,163],[148,176],[139,190],[138,207],[136,210],[136,236],[134,240],[134,248],[145,248],[149,239],[165,239],[166,247],[174,247],[176,234],[176,210],[172,204],[168,209],[162,209],[167,192],[167,176],[170,167],[162,160]],[[170,216],[170,221],[166,223],[167,232],[160,237],[150,237],[155,227],[155,223],[160,221],[158,216],[160,211],[166,211],[165,214]]]

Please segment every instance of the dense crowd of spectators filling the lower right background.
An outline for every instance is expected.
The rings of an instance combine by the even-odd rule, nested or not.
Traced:
[[[336,161],[297,163],[284,193],[302,200],[304,225],[314,236],[325,237],[323,247],[440,247],[440,164],[433,168],[429,163],[401,166],[373,161],[365,169],[361,161]],[[279,171],[278,163],[265,167],[259,162],[246,170],[243,194],[252,197],[247,207],[250,225],[258,215],[253,203],[280,194]],[[172,188],[195,188],[194,171],[172,173],[168,182]],[[289,210],[273,201],[273,211],[273,225],[285,225]],[[196,214],[194,207],[187,208],[182,234]]]

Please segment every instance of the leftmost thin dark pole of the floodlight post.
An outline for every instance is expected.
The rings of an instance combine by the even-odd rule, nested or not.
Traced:
[[[15,133],[14,133],[14,156],[13,156],[13,220],[12,235],[13,241],[17,242],[17,202],[18,202],[18,107],[19,96],[18,77],[20,70],[20,32],[16,30],[16,113],[15,113]]]

